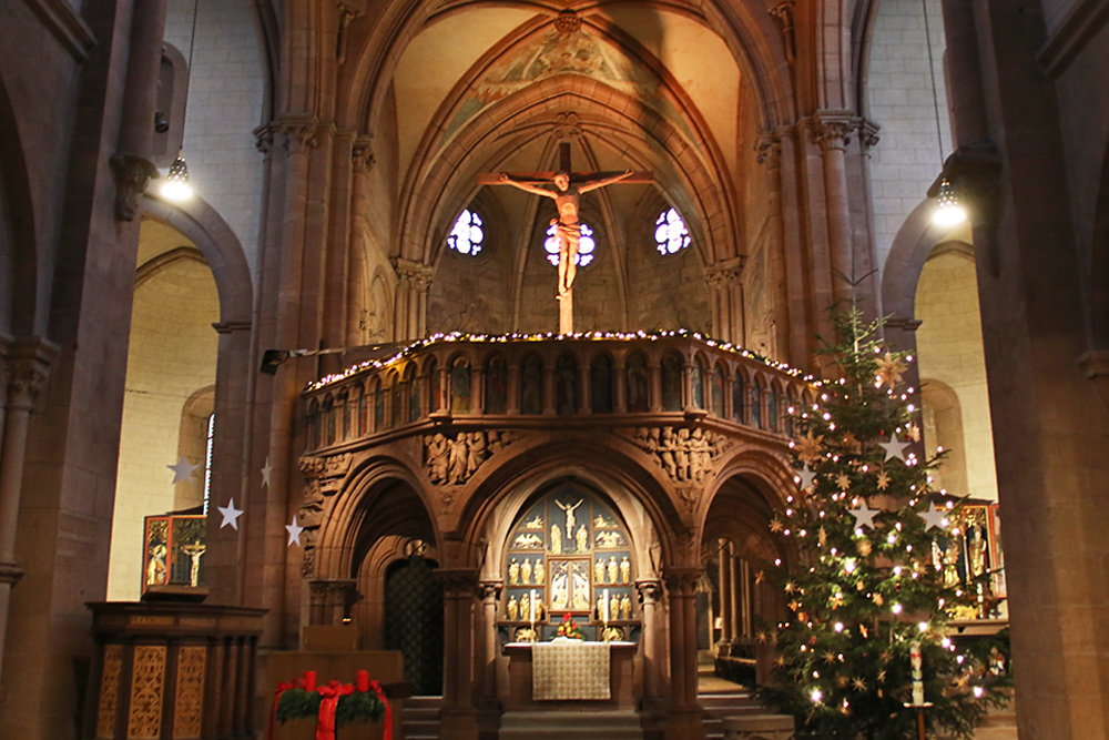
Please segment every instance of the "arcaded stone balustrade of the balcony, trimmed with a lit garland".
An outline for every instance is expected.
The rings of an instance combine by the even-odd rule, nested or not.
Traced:
[[[450,334],[323,378],[304,396],[307,449],[318,453],[482,417],[693,417],[791,434],[788,409],[812,403],[814,389],[798,371],[695,333]]]

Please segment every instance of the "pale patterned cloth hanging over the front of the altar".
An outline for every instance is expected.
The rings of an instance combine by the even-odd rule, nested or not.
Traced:
[[[559,640],[531,648],[531,698],[609,699],[609,645]]]

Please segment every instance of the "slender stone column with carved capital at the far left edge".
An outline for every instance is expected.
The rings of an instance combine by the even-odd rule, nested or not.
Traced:
[[[16,535],[27,458],[27,429],[34,399],[47,383],[50,363],[57,354],[58,347],[42,338],[14,344],[0,379],[8,391],[3,447],[0,449],[0,681],[3,679],[11,589],[23,576],[22,568],[16,564]]]

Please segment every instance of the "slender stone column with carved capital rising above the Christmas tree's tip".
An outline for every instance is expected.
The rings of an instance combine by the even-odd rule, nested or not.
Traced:
[[[847,134],[851,116],[842,111],[816,115],[816,141],[824,164],[824,201],[827,209],[828,251],[832,264],[832,297],[846,308],[853,295],[847,281],[855,280],[852,260],[851,211],[847,203]]]

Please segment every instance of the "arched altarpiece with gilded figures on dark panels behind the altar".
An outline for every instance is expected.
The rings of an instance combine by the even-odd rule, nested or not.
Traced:
[[[628,530],[599,496],[559,487],[526,509],[507,545],[498,620],[506,641],[551,639],[567,615],[587,640],[638,637]]]

